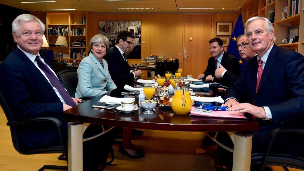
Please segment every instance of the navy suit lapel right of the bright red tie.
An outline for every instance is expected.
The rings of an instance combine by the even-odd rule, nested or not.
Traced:
[[[268,55],[268,58],[267,58],[267,61],[266,61],[266,64],[264,66],[263,74],[262,74],[262,77],[261,77],[261,80],[260,80],[260,84],[259,84],[259,88],[258,88],[257,93],[259,92],[259,90],[261,89],[261,87],[263,86],[263,84],[265,83],[265,80],[266,80],[269,72],[273,68],[274,63],[277,60],[275,58],[275,55],[277,53],[278,53],[278,47],[276,45],[273,45],[272,50],[270,51],[270,53]]]

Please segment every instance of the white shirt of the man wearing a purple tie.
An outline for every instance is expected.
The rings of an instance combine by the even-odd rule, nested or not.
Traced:
[[[36,56],[39,56],[39,59],[47,66],[49,67],[49,69],[53,72],[53,74],[57,77],[57,75],[55,74],[55,72],[53,71],[53,69],[50,68],[49,65],[47,65],[44,61],[43,58],[40,57],[39,53],[37,55],[32,55],[27,53],[26,51],[22,50],[18,45],[17,47],[32,61],[32,63],[38,68],[38,70],[41,72],[41,74],[45,77],[45,79],[50,83],[50,85],[52,86],[52,88],[54,89],[55,93],[57,94],[57,96],[59,97],[60,101],[63,102],[64,104],[66,104],[66,102],[64,101],[64,99],[62,98],[62,96],[60,95],[60,93],[58,92],[58,90],[53,86],[53,84],[50,82],[49,78],[47,78],[47,76],[45,75],[45,73],[38,67],[37,62],[35,61]]]

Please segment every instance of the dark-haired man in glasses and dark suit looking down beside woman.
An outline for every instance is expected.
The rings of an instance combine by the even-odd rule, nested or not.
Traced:
[[[109,72],[117,88],[112,92],[121,93],[126,84],[134,86],[133,80],[139,77],[141,70],[130,70],[126,53],[133,44],[133,36],[129,31],[121,31],[116,39],[116,45],[107,52],[104,59],[108,63]]]

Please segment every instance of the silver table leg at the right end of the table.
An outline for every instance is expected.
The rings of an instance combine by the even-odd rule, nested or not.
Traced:
[[[250,171],[252,135],[235,134],[233,171]]]

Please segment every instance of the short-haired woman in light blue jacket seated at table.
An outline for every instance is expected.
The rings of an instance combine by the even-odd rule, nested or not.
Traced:
[[[79,64],[78,84],[75,97],[97,97],[116,87],[108,71],[108,64],[102,57],[110,42],[106,36],[97,34],[90,40],[90,53]]]

